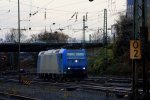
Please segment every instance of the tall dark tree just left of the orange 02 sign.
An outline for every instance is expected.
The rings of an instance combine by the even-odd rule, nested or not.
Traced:
[[[116,43],[114,47],[114,55],[122,56],[129,50],[129,41],[133,33],[133,21],[120,15],[120,19],[115,24]]]

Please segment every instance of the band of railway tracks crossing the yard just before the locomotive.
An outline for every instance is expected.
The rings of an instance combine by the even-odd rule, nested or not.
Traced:
[[[1,78],[2,79],[2,78]],[[6,79],[6,77],[5,77]],[[31,80],[30,84],[25,85],[51,85],[56,86],[60,88],[61,90],[93,90],[93,91],[101,91],[105,93],[113,93],[116,95],[121,95],[124,97],[125,95],[128,95],[131,93],[131,84],[126,79],[114,79],[112,78],[87,78],[83,81],[79,82],[49,82],[49,81],[43,81],[41,79],[34,78]],[[119,81],[118,81],[119,80]],[[123,80],[127,83],[121,82]],[[15,82],[18,83],[19,81],[15,79],[7,79],[5,80],[7,82]]]

